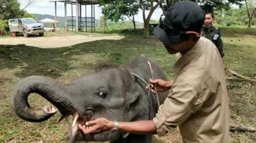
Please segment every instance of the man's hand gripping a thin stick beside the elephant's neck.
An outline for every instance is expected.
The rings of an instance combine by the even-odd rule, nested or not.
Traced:
[[[164,81],[162,79],[155,79],[149,80],[149,86],[147,88],[150,88],[152,92],[164,92],[168,91],[172,86],[171,81]]]

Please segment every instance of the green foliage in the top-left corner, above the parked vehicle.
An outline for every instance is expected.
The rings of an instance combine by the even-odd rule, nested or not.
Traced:
[[[24,16],[24,11],[20,9],[17,0],[0,0],[0,20]]]

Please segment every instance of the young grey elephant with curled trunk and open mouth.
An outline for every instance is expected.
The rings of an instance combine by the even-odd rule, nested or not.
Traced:
[[[149,65],[152,70],[149,70]],[[14,87],[14,112],[28,122],[43,122],[57,111],[61,113],[61,119],[73,116],[69,142],[150,143],[152,135],[118,131],[84,135],[78,129],[78,123],[85,124],[86,121],[100,117],[125,122],[152,119],[168,95],[168,91],[165,91],[156,96],[146,88],[152,77],[167,80],[157,62],[146,56],[136,56],[123,65],[94,68],[65,85],[53,78],[32,75],[21,79]],[[53,106],[33,109],[27,101],[31,93],[39,94]]]

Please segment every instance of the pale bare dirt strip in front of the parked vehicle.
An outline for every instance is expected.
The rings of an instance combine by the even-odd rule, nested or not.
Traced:
[[[72,35],[61,33],[57,36],[56,33],[50,33],[50,37],[2,37],[0,38],[0,45],[18,45],[25,44],[27,46],[36,46],[39,48],[60,48],[64,46],[72,46],[78,43],[85,43],[95,40],[120,40],[123,37],[117,34],[101,34],[89,33],[87,35]]]

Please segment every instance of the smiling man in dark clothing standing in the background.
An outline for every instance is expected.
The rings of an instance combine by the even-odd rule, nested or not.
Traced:
[[[214,21],[215,21],[215,18],[214,18],[213,12],[206,12],[201,36],[211,40],[219,50],[220,56],[223,57],[224,52],[223,52],[223,43],[221,39],[221,33],[217,27],[213,26]]]

